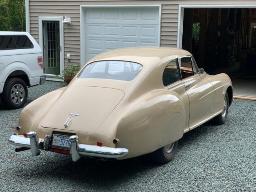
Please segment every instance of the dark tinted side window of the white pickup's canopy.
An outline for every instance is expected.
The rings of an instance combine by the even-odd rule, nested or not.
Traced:
[[[26,35],[0,35],[0,50],[33,48]]]

